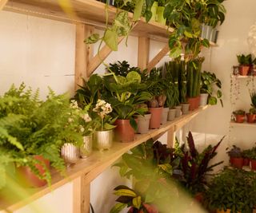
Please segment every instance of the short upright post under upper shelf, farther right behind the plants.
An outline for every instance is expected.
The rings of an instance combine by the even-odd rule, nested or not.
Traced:
[[[138,37],[138,67],[146,69],[150,56],[150,38]]]

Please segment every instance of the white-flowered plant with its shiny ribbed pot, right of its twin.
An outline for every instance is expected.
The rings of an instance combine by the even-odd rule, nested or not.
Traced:
[[[98,122],[96,131],[94,132],[94,143],[100,151],[110,149],[114,136],[114,122],[116,120],[116,118],[112,118],[109,115],[110,112],[112,112],[112,107],[106,101],[98,99],[93,111],[98,115],[94,120],[98,119],[100,121]]]

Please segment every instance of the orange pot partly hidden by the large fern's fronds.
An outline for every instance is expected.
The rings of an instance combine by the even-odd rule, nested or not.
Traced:
[[[48,170],[50,169],[50,161],[46,160],[43,156],[34,156],[34,159],[45,164]],[[38,168],[40,175],[46,172],[42,164],[35,164],[34,167]],[[47,183],[45,179],[39,179],[38,176],[34,175],[34,172],[29,167],[18,168],[18,176],[26,187],[43,187]]]

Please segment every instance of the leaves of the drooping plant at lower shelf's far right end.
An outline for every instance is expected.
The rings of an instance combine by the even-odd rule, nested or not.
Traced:
[[[217,92],[214,91],[214,86],[218,88]],[[222,82],[216,77],[214,73],[204,71],[201,74],[200,87],[201,87],[200,89],[201,93],[209,94],[210,97],[208,97],[208,102],[210,105],[217,105],[218,99],[219,99],[223,107],[222,91],[221,91]]]

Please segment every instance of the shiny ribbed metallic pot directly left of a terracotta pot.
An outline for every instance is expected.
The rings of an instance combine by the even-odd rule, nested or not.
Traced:
[[[113,144],[114,132],[113,129],[105,131],[95,131],[94,132],[94,144],[99,151],[108,150]]]

